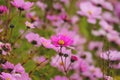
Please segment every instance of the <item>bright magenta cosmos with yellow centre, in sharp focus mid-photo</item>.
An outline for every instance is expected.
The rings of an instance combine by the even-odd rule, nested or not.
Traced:
[[[73,40],[67,35],[55,35],[51,37],[52,43],[56,46],[70,46],[73,44]]]

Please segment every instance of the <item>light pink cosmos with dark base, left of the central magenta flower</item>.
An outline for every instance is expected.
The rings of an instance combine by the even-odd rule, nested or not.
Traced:
[[[40,46],[40,36],[38,34],[35,34],[33,32],[28,33],[25,38],[28,40],[28,42],[32,43],[35,46]]]

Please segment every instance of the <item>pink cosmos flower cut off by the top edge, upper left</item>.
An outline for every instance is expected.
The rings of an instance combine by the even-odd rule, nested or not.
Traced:
[[[19,10],[29,10],[33,6],[33,2],[24,2],[24,0],[13,0],[11,4]]]

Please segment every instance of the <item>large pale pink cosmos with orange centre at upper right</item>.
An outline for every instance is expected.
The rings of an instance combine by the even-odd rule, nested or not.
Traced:
[[[96,19],[101,18],[102,9],[100,7],[96,7],[90,2],[81,2],[80,3],[80,11],[78,14],[82,16],[86,16],[89,23],[96,23]]]

